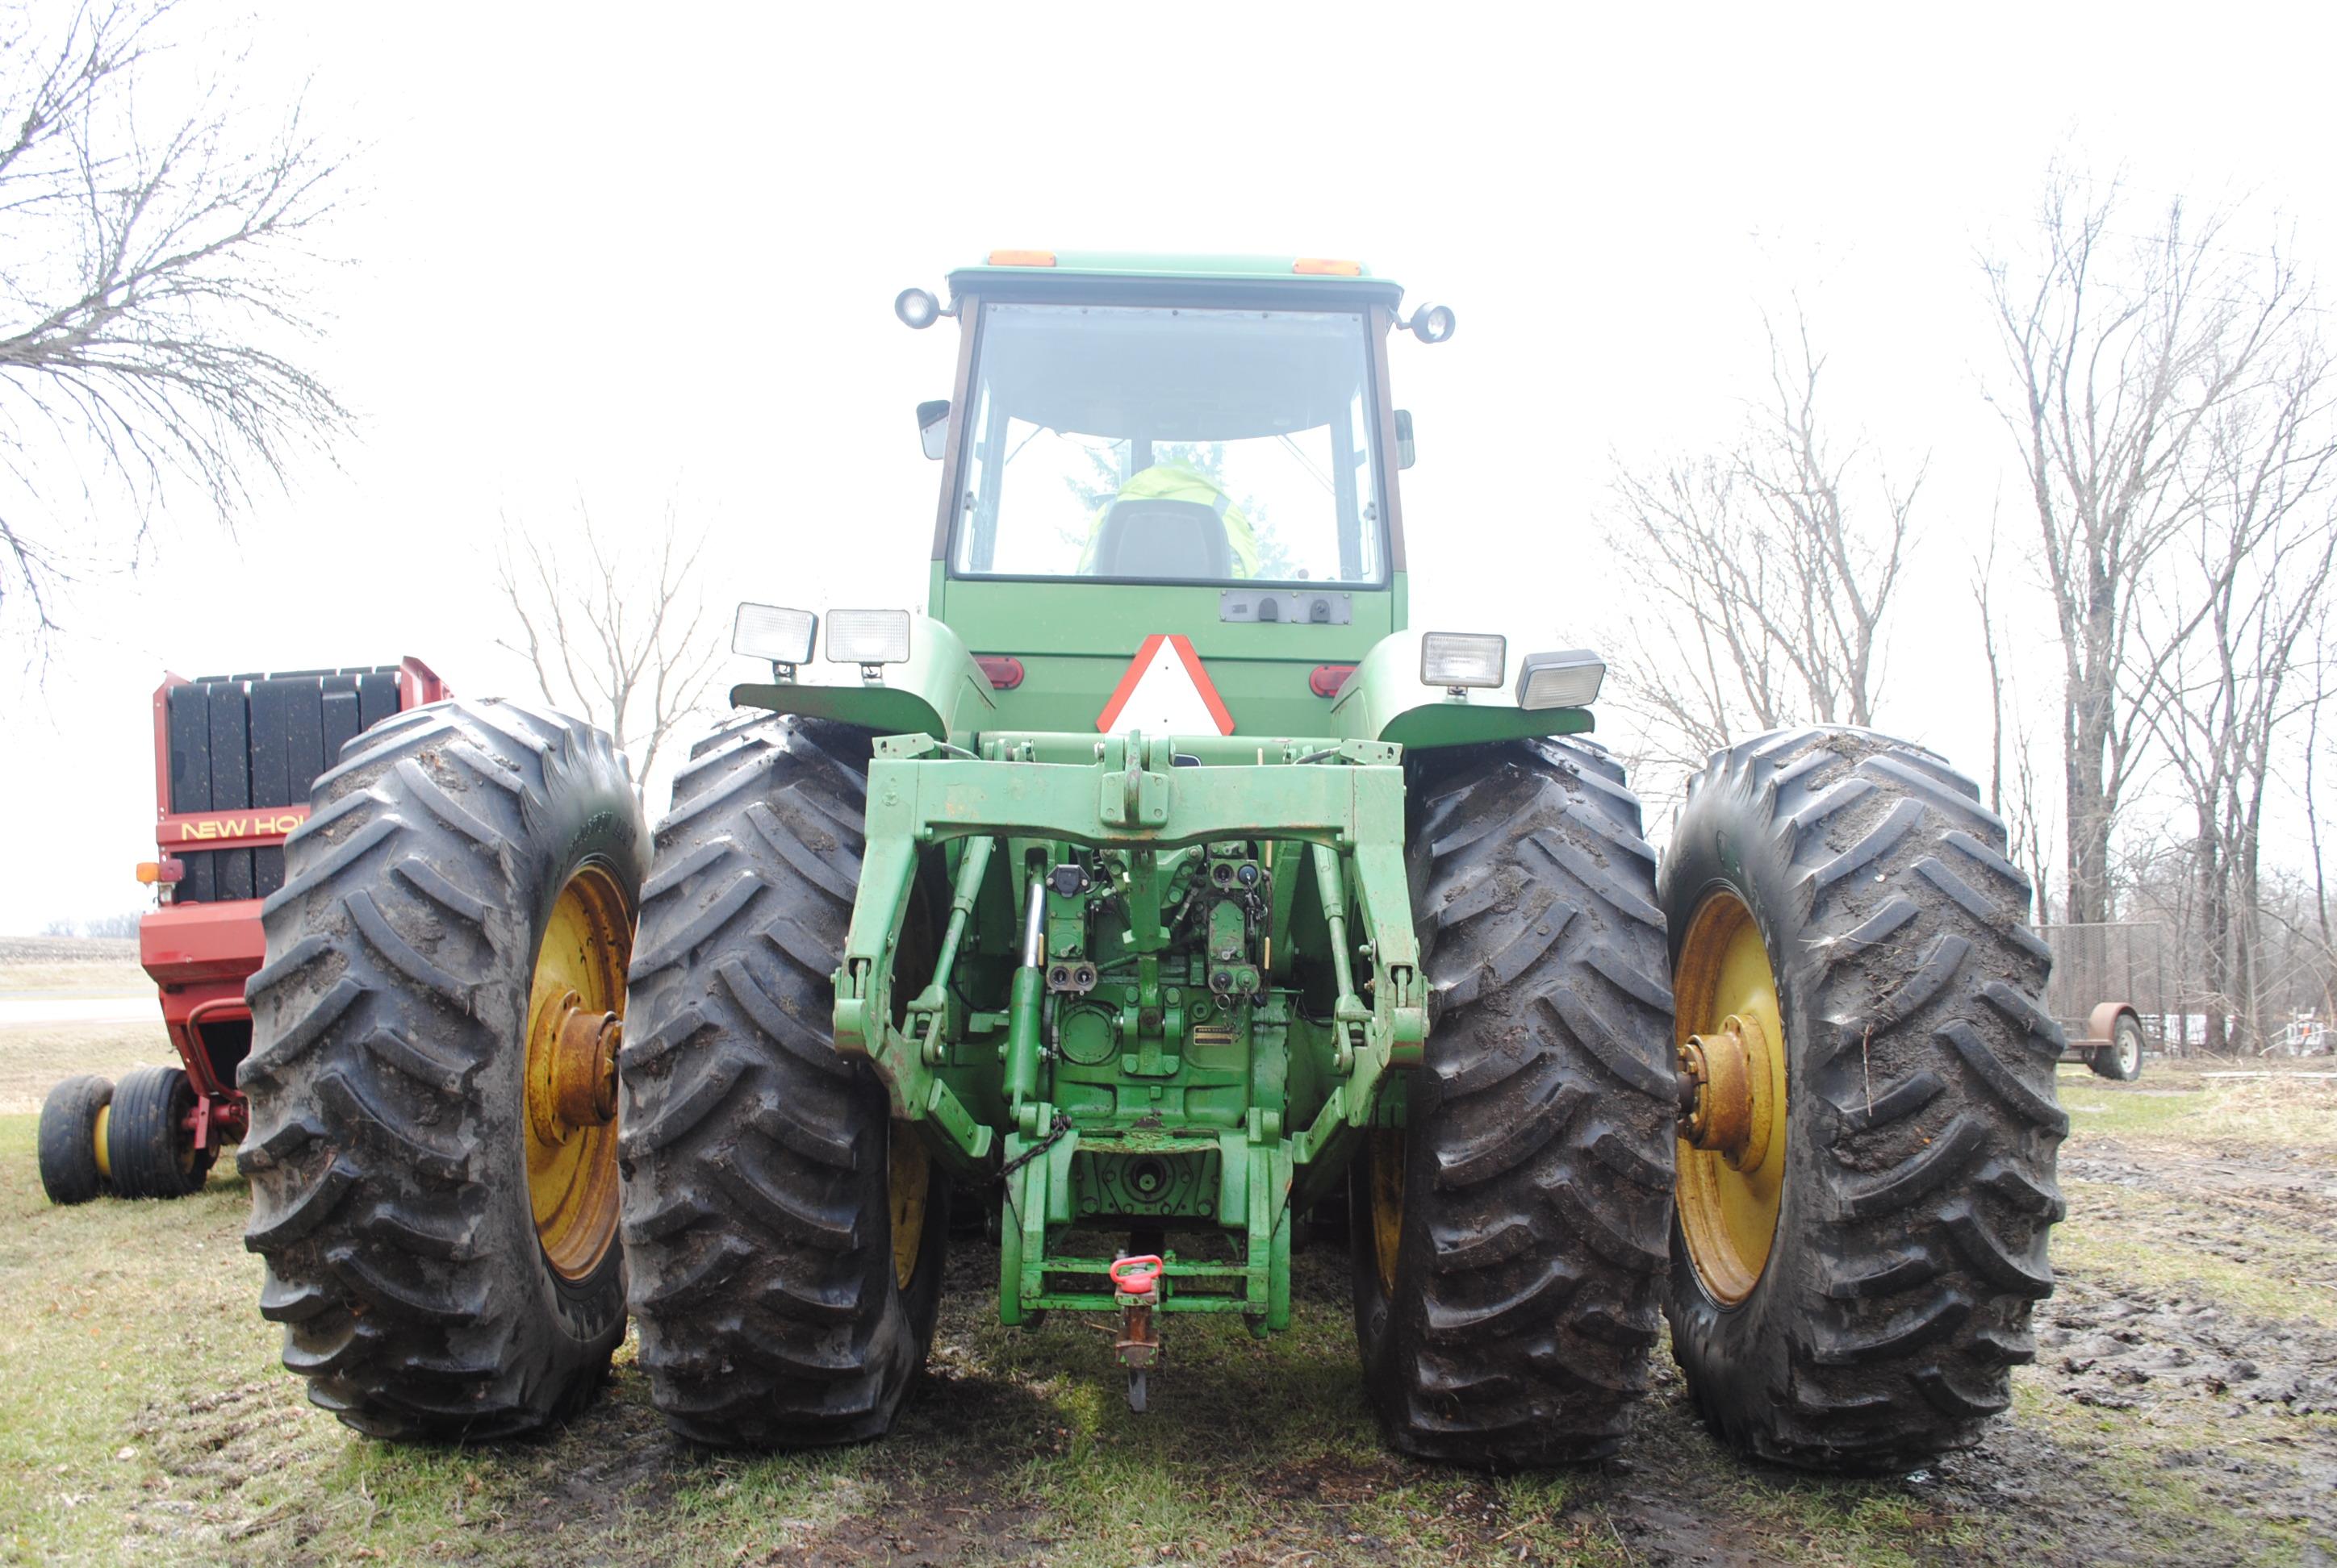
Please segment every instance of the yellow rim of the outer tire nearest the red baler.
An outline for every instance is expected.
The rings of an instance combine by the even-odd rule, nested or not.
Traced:
[[[568,1281],[617,1239],[617,1047],[633,918],[601,867],[561,888],[528,991],[528,1203],[545,1260]]]

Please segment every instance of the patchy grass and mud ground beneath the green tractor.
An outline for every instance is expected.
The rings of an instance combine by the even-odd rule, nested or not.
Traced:
[[[0,1040],[0,1052],[9,1047]],[[666,1437],[619,1365],[573,1428],[386,1449],[306,1407],[252,1311],[234,1178],[51,1210],[0,1117],[0,1556],[512,1563],[2211,1563],[2337,1559],[2337,1084],[2061,1080],[2057,1295],[1984,1444],[1830,1482],[1718,1449],[1659,1351],[1622,1456],[1475,1477],[1369,1425],[1346,1260],[1269,1344],[1176,1325],[1133,1416],[1101,1320],[989,1323],[965,1239],[932,1374],[881,1444],[741,1458]]]

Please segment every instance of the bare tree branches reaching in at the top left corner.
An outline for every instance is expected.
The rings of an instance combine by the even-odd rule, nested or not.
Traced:
[[[245,112],[231,63],[175,70],[171,12],[0,9],[0,605],[35,638],[86,556],[75,502],[129,502],[126,563],[171,484],[224,519],[348,425],[287,358],[344,166],[297,107]]]

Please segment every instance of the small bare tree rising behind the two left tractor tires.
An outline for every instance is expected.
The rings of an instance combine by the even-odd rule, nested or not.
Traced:
[[[498,645],[528,659],[545,701],[608,729],[647,804],[666,743],[706,710],[722,640],[696,582],[706,535],[685,540],[668,500],[636,540],[603,544],[582,502],[575,537],[545,540],[505,519],[495,584],[519,636]]]

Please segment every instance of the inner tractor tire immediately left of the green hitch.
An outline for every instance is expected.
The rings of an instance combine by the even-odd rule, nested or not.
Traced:
[[[715,1446],[881,1435],[932,1344],[949,1182],[867,1063],[830,1038],[860,883],[869,743],[797,717],[731,727],[657,830],[622,1056],[624,1236],[650,1395]],[[907,1140],[907,1143],[904,1143]]]

